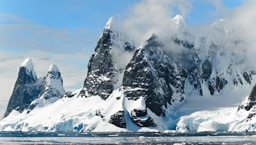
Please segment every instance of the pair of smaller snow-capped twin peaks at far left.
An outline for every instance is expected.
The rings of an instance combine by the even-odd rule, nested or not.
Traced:
[[[12,97],[4,117],[13,110],[22,113],[31,111],[38,106],[52,103],[65,94],[63,80],[58,66],[52,64],[44,78],[37,78],[33,61],[25,59],[19,70],[19,76],[15,83]]]

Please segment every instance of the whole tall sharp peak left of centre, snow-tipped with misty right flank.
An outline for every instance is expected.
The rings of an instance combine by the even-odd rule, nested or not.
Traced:
[[[113,17],[109,18],[102,36],[88,63],[88,74],[84,80],[81,96],[100,95],[102,99],[119,88],[124,76],[125,57],[132,56],[134,41],[125,32],[118,31]]]

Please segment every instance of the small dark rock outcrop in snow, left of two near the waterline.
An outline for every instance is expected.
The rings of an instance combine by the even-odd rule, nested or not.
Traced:
[[[110,117],[109,123],[116,125],[116,127],[126,128],[126,121],[124,111],[118,111]]]

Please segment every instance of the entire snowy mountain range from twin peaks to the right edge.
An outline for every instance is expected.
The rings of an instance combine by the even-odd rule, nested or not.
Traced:
[[[15,85],[0,130],[228,130],[234,108],[202,110],[234,107],[252,89],[256,69],[248,66],[245,42],[229,37],[235,31],[227,32],[231,28],[225,29],[223,22],[211,25],[218,37],[200,36],[177,15],[170,19],[171,34],[152,34],[136,48],[129,32],[122,32],[111,17],[89,60],[83,88],[65,93],[57,66],[37,79],[31,60],[22,64],[20,70],[25,71],[19,72],[20,85]],[[23,89],[26,85],[31,90]],[[13,105],[20,96],[29,101]],[[205,107],[209,102],[214,104]]]

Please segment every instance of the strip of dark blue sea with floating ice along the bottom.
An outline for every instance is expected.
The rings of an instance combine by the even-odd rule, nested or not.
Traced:
[[[256,133],[0,132],[0,144],[256,144]]]

